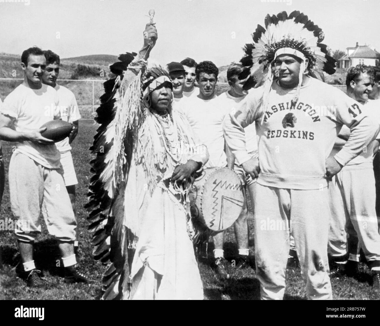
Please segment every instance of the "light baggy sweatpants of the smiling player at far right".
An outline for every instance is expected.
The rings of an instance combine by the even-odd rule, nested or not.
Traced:
[[[363,249],[371,269],[380,270],[380,235],[375,210],[376,190],[372,168],[355,169],[346,166],[330,182],[331,221],[329,253],[336,261]],[[348,248],[347,244],[352,248]],[[355,241],[355,238],[357,240]]]

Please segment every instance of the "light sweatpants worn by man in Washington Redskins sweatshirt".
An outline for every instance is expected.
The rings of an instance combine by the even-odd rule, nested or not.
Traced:
[[[283,299],[290,234],[294,237],[308,299],[332,299],[327,258],[327,188],[294,190],[257,184],[256,273],[261,299]]]

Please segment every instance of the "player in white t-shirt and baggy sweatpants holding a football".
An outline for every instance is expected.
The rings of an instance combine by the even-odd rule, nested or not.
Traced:
[[[76,221],[60,171],[60,154],[54,142],[41,135],[45,129],[41,125],[59,116],[56,109],[51,110],[58,105],[57,92],[41,83],[46,68],[41,49],[25,50],[21,62],[24,82],[5,98],[0,116],[0,139],[16,142],[8,176],[12,215],[17,219],[14,232],[24,267],[20,276],[28,286],[46,286],[33,260],[42,213],[47,231],[58,241],[65,282],[89,283],[75,269]]]

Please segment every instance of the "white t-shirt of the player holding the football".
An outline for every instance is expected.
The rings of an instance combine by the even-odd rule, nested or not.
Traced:
[[[51,86],[42,84],[40,89],[30,89],[21,84],[4,100],[2,114],[13,117],[13,126],[19,132],[38,130],[44,123],[59,116],[58,96]],[[39,145],[31,141],[16,142],[16,152],[22,153],[49,168],[58,169],[60,154],[53,145]]]

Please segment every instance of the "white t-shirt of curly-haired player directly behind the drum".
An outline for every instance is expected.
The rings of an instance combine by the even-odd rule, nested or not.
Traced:
[[[205,101],[195,96],[184,102],[184,113],[193,132],[209,151],[210,158],[205,165],[206,168],[227,165],[222,124],[224,116],[230,112],[230,109],[220,109],[215,98],[216,96]]]

